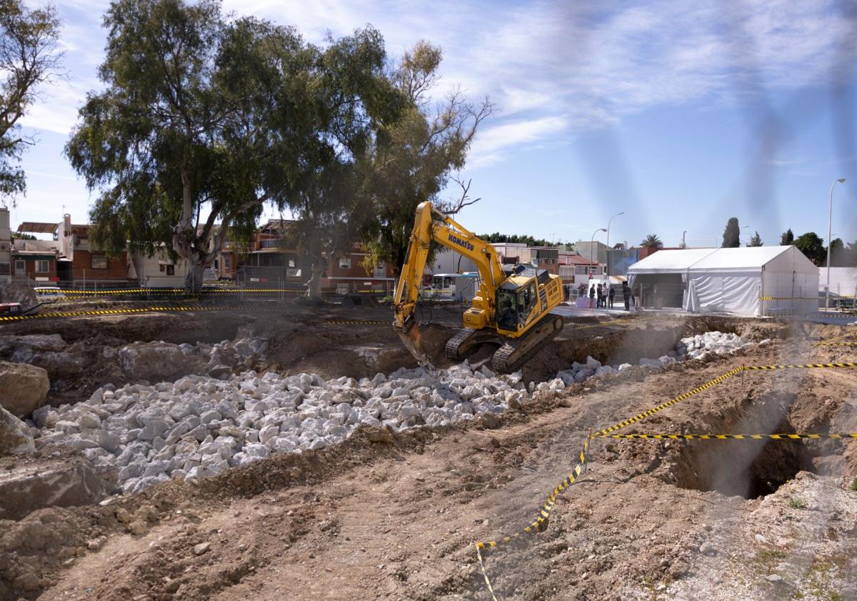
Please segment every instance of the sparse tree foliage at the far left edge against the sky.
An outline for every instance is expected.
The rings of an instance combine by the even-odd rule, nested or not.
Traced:
[[[36,98],[36,88],[57,75],[60,22],[47,5],[29,9],[21,0],[0,0],[0,196],[27,189],[21,153],[34,143],[18,123]]]

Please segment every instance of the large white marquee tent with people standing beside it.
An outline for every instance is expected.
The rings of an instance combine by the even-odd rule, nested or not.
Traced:
[[[818,267],[794,246],[659,250],[628,275],[655,306],[741,315],[818,310]]]

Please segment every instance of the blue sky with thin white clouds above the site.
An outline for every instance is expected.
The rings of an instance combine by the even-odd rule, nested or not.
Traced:
[[[33,4],[33,3],[31,3]],[[693,6],[699,4],[700,6]],[[649,233],[668,246],[827,234],[857,239],[857,9],[781,0],[394,2],[226,0],[225,10],[291,24],[315,43],[373,24],[391,57],[442,46],[438,97],[460,85],[499,107],[461,174],[482,201],[459,215],[479,232],[589,240],[614,213],[610,242]],[[68,77],[24,120],[23,220],[86,219],[92,196],[63,158],[76,111],[98,89],[107,6],[57,2]],[[850,13],[848,12],[850,10]],[[454,185],[454,184],[453,184]],[[455,195],[449,189],[446,196]],[[270,211],[269,214],[272,214]],[[596,239],[605,240],[599,233]]]

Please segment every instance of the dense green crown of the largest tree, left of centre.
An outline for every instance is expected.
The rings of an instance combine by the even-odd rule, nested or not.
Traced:
[[[66,146],[100,192],[93,241],[166,245],[190,262],[186,289],[199,289],[227,231],[249,237],[265,203],[312,220],[306,236],[320,231],[312,197],[335,187],[328,167],[338,180],[390,112],[371,28],[322,50],[290,27],[229,21],[219,0],[114,0],[105,27],[105,90],[87,96]]]

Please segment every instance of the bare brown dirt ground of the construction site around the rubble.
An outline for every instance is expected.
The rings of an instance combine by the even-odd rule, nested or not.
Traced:
[[[536,394],[500,416],[415,428],[376,442],[358,429],[320,451],[274,455],[198,482],[171,481],[98,506],[0,521],[3,541],[48,526],[33,545],[39,599],[490,599],[476,542],[532,522],[597,432],[742,365],[854,362],[855,327],[724,317],[635,315],[596,327],[566,320],[524,369],[542,382],[590,355],[657,358],[686,334],[719,330],[770,345],[594,378]],[[460,310],[423,315],[438,366]],[[370,323],[379,322],[379,323]],[[256,370],[372,376],[414,363],[384,307],[161,313],[33,320],[0,335],[61,334],[82,346],[273,335]],[[585,327],[584,327],[585,326]],[[366,349],[370,352],[367,352]],[[98,362],[52,391],[85,398],[115,380]],[[106,369],[106,368],[105,368]],[[742,371],[617,433],[857,432],[855,369]],[[72,451],[42,449],[29,459]],[[2,465],[0,465],[2,467]],[[542,532],[486,550],[499,599],[857,598],[857,440],[646,441],[596,438],[582,478]],[[129,532],[125,515],[145,528]],[[0,559],[0,564],[3,560]],[[3,566],[0,565],[0,568]],[[36,569],[38,567],[38,569]]]

